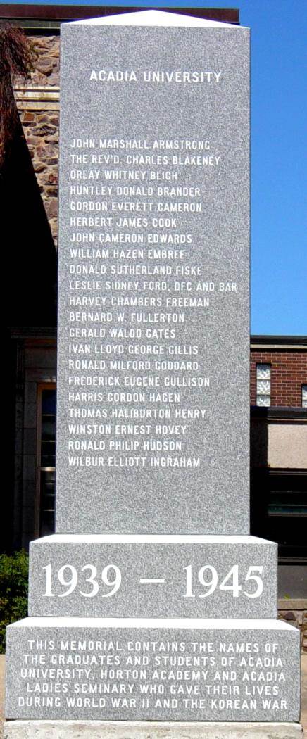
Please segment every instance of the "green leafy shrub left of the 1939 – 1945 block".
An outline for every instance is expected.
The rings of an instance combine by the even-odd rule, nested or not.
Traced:
[[[0,554],[0,653],[5,650],[5,627],[27,616],[29,557],[25,551]]]

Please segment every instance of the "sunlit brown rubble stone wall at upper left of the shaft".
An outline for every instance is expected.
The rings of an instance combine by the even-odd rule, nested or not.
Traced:
[[[37,55],[35,71],[25,88],[16,86],[16,100],[57,245],[59,37],[41,35],[29,38]]]

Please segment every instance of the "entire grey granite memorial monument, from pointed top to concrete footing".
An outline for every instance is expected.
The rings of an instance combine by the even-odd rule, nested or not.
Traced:
[[[300,635],[249,534],[249,31],[62,27],[56,534],[7,739],[296,738]]]

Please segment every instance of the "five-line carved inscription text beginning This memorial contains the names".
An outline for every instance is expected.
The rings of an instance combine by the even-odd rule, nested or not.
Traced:
[[[288,666],[280,635],[223,630],[133,629],[87,635],[27,635],[16,665],[18,712],[41,706],[71,718],[280,720],[288,708]],[[120,713],[121,712],[121,713]],[[281,713],[280,713],[281,712]]]

